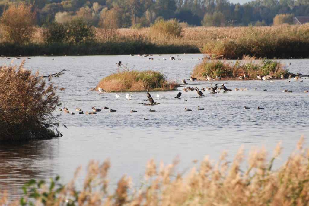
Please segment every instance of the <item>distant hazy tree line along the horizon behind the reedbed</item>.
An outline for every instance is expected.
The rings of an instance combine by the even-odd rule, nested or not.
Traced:
[[[0,14],[13,4],[33,4],[36,24],[65,23],[83,18],[99,26],[100,16],[117,18],[117,27],[147,27],[159,19],[177,19],[189,26],[266,26],[277,14],[309,16],[307,0],[0,0]],[[104,14],[103,14],[104,13]]]

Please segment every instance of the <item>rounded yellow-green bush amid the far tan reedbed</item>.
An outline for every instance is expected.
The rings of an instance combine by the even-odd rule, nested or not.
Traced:
[[[155,24],[150,24],[150,35],[153,37],[181,37],[181,30],[182,27],[176,19],[160,19]]]

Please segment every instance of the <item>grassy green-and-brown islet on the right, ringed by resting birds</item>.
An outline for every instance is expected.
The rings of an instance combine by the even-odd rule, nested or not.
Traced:
[[[272,59],[255,59],[248,56],[243,57],[243,61],[236,60],[226,62],[215,59],[204,59],[202,63],[193,68],[192,76],[200,80],[206,80],[207,76],[216,77],[217,75],[227,79],[239,78],[248,75],[247,79],[256,79],[256,75],[272,75],[280,77],[286,75],[287,70],[279,62]]]

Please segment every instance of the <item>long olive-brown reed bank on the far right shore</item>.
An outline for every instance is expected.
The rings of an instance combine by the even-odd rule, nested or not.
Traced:
[[[249,26],[236,38],[221,38],[206,43],[201,52],[230,59],[241,58],[243,55],[263,58],[307,58],[309,25],[273,26],[270,29]]]

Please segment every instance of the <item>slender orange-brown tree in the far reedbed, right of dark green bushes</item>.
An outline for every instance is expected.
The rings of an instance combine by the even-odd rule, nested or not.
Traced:
[[[116,10],[102,10],[99,27],[103,29],[103,38],[105,42],[110,42],[116,37],[119,24],[119,16]]]

